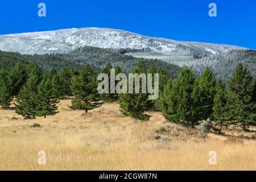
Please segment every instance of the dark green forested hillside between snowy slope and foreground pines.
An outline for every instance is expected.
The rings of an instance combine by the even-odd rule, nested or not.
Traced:
[[[20,55],[19,53],[0,51],[0,68],[13,67],[17,61],[24,64],[27,62],[35,62],[44,69],[55,68],[60,71],[63,68],[80,69],[82,65],[89,64],[95,68],[96,72],[104,68],[107,63],[113,66],[119,66],[123,72],[129,73],[139,58],[133,56],[122,55],[120,52],[113,52],[109,49],[101,49],[95,47],[82,47],[69,53],[56,53],[46,55]],[[156,68],[166,68],[168,75],[177,77],[180,67],[173,64],[165,63],[161,60],[143,59],[146,67],[154,65]]]

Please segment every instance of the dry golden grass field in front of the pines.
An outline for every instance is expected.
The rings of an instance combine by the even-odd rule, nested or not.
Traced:
[[[138,121],[118,104],[88,115],[70,104],[61,101],[59,114],[33,120],[0,110],[0,170],[256,170],[256,140],[200,134],[156,112]],[[38,164],[39,151],[46,165]],[[217,152],[216,165],[208,163],[209,151]]]

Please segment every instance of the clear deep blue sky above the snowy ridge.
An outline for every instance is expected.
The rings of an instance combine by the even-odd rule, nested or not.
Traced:
[[[38,16],[40,2],[46,3],[46,18]],[[208,16],[211,2],[216,18]],[[0,20],[0,34],[108,27],[256,49],[255,0],[1,0]]]

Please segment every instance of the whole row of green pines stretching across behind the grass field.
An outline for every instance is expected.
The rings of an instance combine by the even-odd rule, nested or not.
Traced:
[[[110,77],[112,68],[108,63],[101,72]],[[116,74],[122,72],[118,66],[114,69]],[[46,71],[36,63],[18,62],[10,71],[0,69],[0,105],[7,109],[15,98],[15,111],[24,118],[47,117],[57,113],[60,99],[72,96],[69,107],[85,113],[104,102],[117,101],[122,114],[145,121],[150,118],[145,112],[156,110],[162,111],[167,121],[192,127],[208,118],[220,126],[241,123],[243,130],[256,124],[256,81],[242,64],[227,84],[216,81],[209,67],[201,76],[183,67],[173,78],[163,67],[147,67],[144,61],[138,61],[131,73],[158,73],[159,99],[148,100],[148,93],[99,94],[99,81],[90,65],[80,71],[64,68],[57,72]]]

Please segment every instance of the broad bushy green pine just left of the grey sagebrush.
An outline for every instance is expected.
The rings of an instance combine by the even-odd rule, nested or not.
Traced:
[[[168,84],[164,86],[161,101],[163,102],[163,115],[167,121],[195,126],[197,121],[192,115],[194,84],[195,73],[188,67],[184,67],[179,77],[174,81],[168,81]]]

